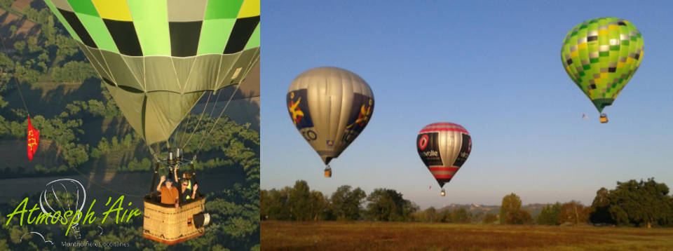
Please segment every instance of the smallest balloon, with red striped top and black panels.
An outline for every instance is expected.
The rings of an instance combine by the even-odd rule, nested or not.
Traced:
[[[421,160],[442,187],[449,183],[470,156],[472,139],[463,126],[455,123],[431,123],[419,132],[416,149]]]

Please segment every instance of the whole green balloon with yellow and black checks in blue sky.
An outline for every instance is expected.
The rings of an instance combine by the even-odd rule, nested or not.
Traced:
[[[563,66],[602,112],[636,73],[643,58],[643,36],[629,21],[596,18],[575,26],[561,48]],[[601,123],[608,118],[601,114]]]

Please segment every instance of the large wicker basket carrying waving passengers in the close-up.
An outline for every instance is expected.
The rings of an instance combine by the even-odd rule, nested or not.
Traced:
[[[142,222],[144,238],[172,245],[203,235],[205,228],[203,226],[196,228],[193,219],[193,215],[205,210],[203,197],[181,204],[179,208],[145,198],[144,208]]]

